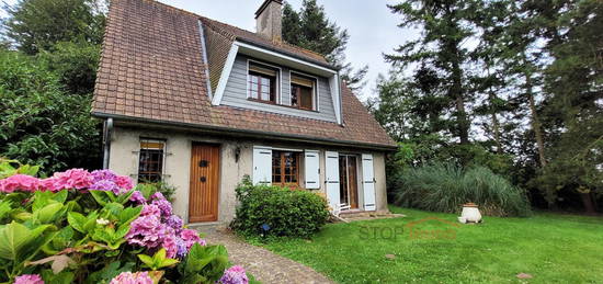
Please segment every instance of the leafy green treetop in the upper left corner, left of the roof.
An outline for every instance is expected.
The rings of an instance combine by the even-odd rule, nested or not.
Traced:
[[[5,5],[5,35],[19,50],[34,55],[58,42],[101,44],[105,0],[20,0]]]

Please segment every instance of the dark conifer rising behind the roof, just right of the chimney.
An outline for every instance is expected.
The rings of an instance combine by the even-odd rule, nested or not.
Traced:
[[[341,78],[353,91],[362,89],[368,66],[353,70],[345,63],[345,46],[350,35],[335,23],[329,21],[325,8],[316,0],[304,0],[296,12],[289,3],[283,8],[283,39],[289,44],[323,55],[327,60],[341,69]]]

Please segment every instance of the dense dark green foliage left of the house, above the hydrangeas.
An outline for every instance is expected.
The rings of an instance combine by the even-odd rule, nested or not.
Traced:
[[[100,135],[90,101],[62,92],[57,78],[34,60],[0,52],[0,155],[48,172],[94,167]]]

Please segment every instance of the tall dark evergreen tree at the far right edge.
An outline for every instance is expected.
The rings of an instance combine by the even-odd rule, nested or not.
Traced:
[[[592,213],[594,193],[603,191],[603,2],[527,1],[525,8],[548,36],[545,48],[553,61],[544,77],[546,111],[558,135],[535,182],[543,184],[549,203],[558,191],[573,191]]]

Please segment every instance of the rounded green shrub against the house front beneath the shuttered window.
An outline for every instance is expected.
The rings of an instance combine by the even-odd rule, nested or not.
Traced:
[[[237,188],[240,205],[231,227],[247,236],[310,237],[329,218],[327,201],[309,191],[253,185]]]

